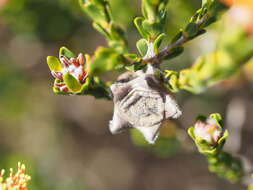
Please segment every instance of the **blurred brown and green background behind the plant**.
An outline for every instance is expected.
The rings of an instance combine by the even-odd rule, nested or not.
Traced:
[[[110,2],[137,52],[132,19],[140,15],[140,0]],[[171,0],[168,35],[200,6],[200,0]],[[209,27],[164,67],[186,68],[213,51],[219,30],[219,23]],[[200,113],[220,112],[230,131],[226,150],[253,161],[253,63],[203,94],[176,94],[183,116],[169,122],[166,141],[147,146],[139,134],[110,134],[112,102],[52,92],[46,56],[57,56],[61,46],[92,54],[100,45],[105,40],[77,0],[0,0],[0,168],[24,162],[31,190],[245,189],[210,174],[184,128]]]

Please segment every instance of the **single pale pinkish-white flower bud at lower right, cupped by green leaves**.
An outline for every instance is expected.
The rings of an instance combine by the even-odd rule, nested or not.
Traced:
[[[213,119],[198,120],[194,125],[195,137],[205,140],[209,145],[215,146],[222,136],[221,126]]]

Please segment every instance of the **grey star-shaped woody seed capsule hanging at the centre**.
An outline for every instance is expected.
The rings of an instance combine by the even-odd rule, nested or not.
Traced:
[[[158,137],[164,120],[177,118],[181,111],[152,72],[127,72],[111,86],[114,115],[110,121],[113,134],[136,128],[149,143]]]

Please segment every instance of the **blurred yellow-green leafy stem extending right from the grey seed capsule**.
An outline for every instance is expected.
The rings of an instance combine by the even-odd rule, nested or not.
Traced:
[[[252,43],[253,39],[248,38],[241,29],[224,31],[215,52],[199,57],[191,68],[180,72],[166,71],[168,88],[175,92],[203,92],[237,73],[245,60],[253,54]]]

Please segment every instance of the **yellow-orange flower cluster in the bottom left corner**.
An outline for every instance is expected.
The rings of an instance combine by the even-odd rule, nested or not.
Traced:
[[[18,163],[18,171],[14,174],[13,169],[10,169],[10,175],[4,179],[5,171],[0,173],[0,190],[28,190],[27,183],[31,177],[25,174],[25,165]]]

